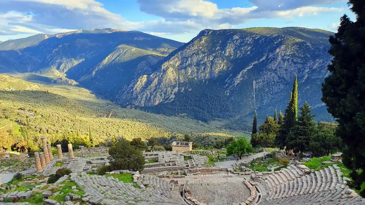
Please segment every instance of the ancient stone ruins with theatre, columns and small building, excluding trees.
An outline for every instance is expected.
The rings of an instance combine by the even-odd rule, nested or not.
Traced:
[[[250,166],[290,157],[284,150],[274,150],[239,162],[222,160],[216,164],[225,166],[215,166],[207,156],[217,157],[224,150],[191,151],[191,142],[173,142],[174,151],[143,152],[145,167],[141,172],[112,170],[97,175],[101,167],[109,165],[108,148],[80,146],[73,150],[68,144],[67,150],[62,150],[57,145],[53,154],[45,138],[42,143],[43,152],[34,153],[33,168],[19,172],[25,179],[19,185],[1,186],[1,205],[29,205],[32,202],[27,200],[32,198],[45,205],[365,204],[365,199],[346,185],[350,179],[343,177],[336,164],[342,153],[333,154],[319,170],[303,164],[309,159],[300,162],[291,158],[284,168],[275,170],[269,165],[268,171],[259,172]],[[60,168],[71,173],[47,184],[46,179]],[[14,172],[7,169],[5,173],[9,171]],[[130,181],[120,176],[130,176]]]

